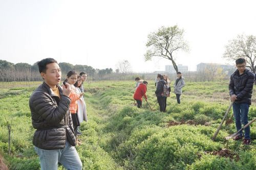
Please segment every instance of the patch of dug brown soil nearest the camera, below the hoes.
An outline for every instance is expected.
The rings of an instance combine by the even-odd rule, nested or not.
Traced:
[[[239,161],[240,159],[237,153],[234,153],[233,151],[225,148],[220,151],[212,151],[212,152],[205,151],[204,154],[218,155],[220,157],[229,158],[230,160],[235,160],[235,161]],[[201,155],[199,155],[199,157],[201,157]]]

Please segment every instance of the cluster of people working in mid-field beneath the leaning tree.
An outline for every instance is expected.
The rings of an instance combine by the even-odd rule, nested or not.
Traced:
[[[137,102],[137,107],[142,107],[142,98],[147,102],[146,90],[147,90],[147,81],[141,80],[139,77],[135,78],[136,87],[134,92],[134,100]],[[155,86],[155,94],[157,96],[157,102],[159,104],[159,109],[161,112],[166,111],[167,98],[170,96],[170,87],[171,81],[168,79],[167,75],[157,75]],[[182,94],[182,88],[185,86],[184,78],[182,77],[181,72],[177,73],[177,79],[174,82],[174,93],[176,94],[177,103],[180,104],[180,96]]]

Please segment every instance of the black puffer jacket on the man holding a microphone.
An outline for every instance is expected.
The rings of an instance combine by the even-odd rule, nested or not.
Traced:
[[[71,145],[75,145],[76,138],[69,111],[71,100],[62,95],[59,85],[57,87],[61,99],[44,82],[32,93],[29,100],[32,125],[36,129],[33,144],[40,149],[63,149],[66,139]]]

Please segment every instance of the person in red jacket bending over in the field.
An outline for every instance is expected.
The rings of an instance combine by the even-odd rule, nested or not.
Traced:
[[[140,85],[137,87],[137,89],[135,90],[135,93],[133,95],[133,99],[136,100],[138,108],[141,108],[141,106],[142,106],[143,96],[144,96],[145,100],[147,101],[146,86],[147,86],[146,81],[143,81],[143,83],[140,83]]]

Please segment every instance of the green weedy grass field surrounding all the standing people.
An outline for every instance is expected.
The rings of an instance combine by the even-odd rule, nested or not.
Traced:
[[[28,106],[39,84],[0,83],[0,151],[10,169],[40,169]],[[167,98],[166,113],[158,111],[154,82],[147,88],[154,112],[145,101],[142,109],[133,106],[134,86],[128,81],[84,84],[89,121],[80,127],[82,145],[77,147],[84,169],[255,168],[255,123],[251,145],[224,140],[236,132],[234,123],[223,125],[216,141],[211,140],[230,103],[228,82],[187,82],[180,105],[173,93]],[[249,120],[256,117],[255,93]],[[10,156],[7,121],[12,128]]]

